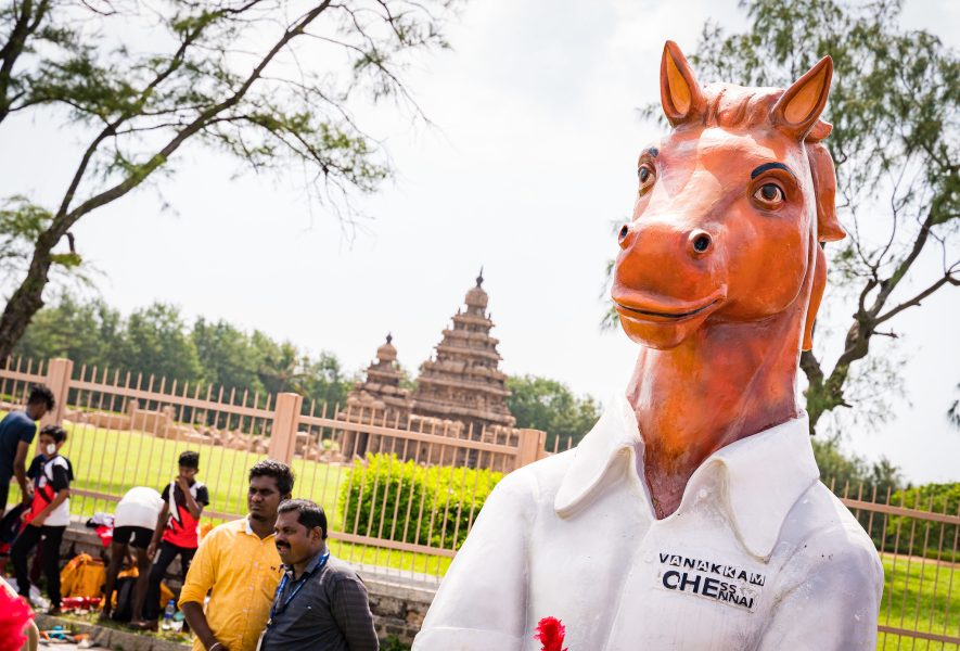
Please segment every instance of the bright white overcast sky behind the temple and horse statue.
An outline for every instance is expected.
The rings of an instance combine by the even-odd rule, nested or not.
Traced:
[[[906,4],[905,25],[958,46],[960,3]],[[159,191],[86,217],[74,229],[79,251],[125,312],[174,303],[188,319],[333,352],[349,370],[387,332],[415,370],[483,266],[501,368],[606,401],[637,354],[622,332],[599,329],[611,225],[628,217],[637,155],[660,132],[637,107],[658,99],[664,41],[692,52],[707,18],[745,25],[735,0],[469,3],[451,25],[453,49],[419,58],[408,76],[434,126],[391,105],[361,112],[398,174],[359,200],[371,219],[353,237],[310,204],[300,170],[257,176],[185,148]],[[56,115],[8,119],[0,151],[16,155],[0,156],[0,196],[52,202],[80,143]],[[943,290],[898,317],[901,336],[884,354],[906,391],[885,398],[893,418],[882,425],[837,421],[845,450],[886,456],[913,482],[960,481],[960,431],[945,418],[960,382],[958,299]],[[824,330],[845,327],[839,308]],[[835,349],[840,334],[829,336]]]

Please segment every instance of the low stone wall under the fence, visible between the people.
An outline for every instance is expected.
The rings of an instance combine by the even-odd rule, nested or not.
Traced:
[[[89,553],[99,559],[103,550],[93,529],[86,527],[84,522],[75,520],[64,534],[61,556],[66,557],[73,551]],[[178,558],[170,565],[167,578],[167,585],[175,589],[180,587],[179,563]],[[370,593],[370,610],[373,613],[377,637],[383,639],[393,635],[408,644],[412,642],[433,602],[436,588],[404,576],[384,576],[364,567],[359,567],[357,572]]]

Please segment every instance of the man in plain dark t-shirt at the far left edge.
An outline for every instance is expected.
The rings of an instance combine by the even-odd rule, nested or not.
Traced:
[[[53,392],[38,385],[30,390],[27,407],[11,411],[0,421],[0,516],[7,510],[10,480],[20,484],[23,502],[30,501],[33,486],[27,481],[27,451],[37,435],[37,421],[53,409]]]

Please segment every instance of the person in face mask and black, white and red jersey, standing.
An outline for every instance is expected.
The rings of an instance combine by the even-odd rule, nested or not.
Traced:
[[[10,549],[17,591],[29,600],[30,579],[27,560],[30,551],[43,539],[43,574],[50,596],[50,613],[60,612],[60,544],[71,521],[69,486],[74,469],[69,459],[60,455],[66,443],[66,431],[56,425],[40,430],[38,449],[40,455],[30,463],[27,475],[34,480],[34,500],[24,513],[27,526],[23,528]]]

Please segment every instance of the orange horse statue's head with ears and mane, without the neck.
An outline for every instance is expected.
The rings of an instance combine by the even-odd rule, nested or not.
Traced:
[[[668,349],[712,322],[784,310],[810,333],[827,282],[818,242],[839,240],[833,162],[819,143],[833,72],[824,58],[786,90],[701,88],[676,43],[661,64],[673,131],[645,149],[613,298],[633,341]],[[801,342],[797,342],[798,344]]]

